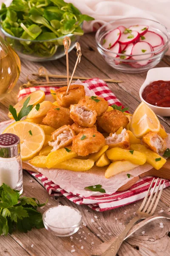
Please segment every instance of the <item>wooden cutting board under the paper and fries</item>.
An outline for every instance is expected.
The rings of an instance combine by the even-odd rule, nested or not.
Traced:
[[[37,172],[36,169],[29,166],[27,163],[23,163],[23,169],[31,172]],[[170,180],[170,158],[167,159],[167,162],[164,164],[164,166],[160,170],[156,170],[154,168],[150,169],[150,171],[144,172],[141,175],[129,180],[125,185],[121,186],[117,191],[125,191],[127,189],[130,189],[130,187],[133,186],[137,180],[146,176],[154,176],[154,177]]]

